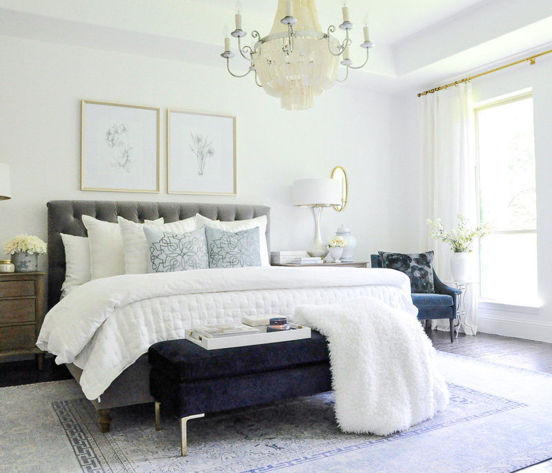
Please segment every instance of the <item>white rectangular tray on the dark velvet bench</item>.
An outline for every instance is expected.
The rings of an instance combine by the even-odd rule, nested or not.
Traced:
[[[186,330],[186,340],[189,340],[206,350],[219,350],[220,348],[246,347],[249,345],[263,345],[264,343],[277,343],[280,341],[301,340],[311,338],[311,329],[296,323],[288,324],[292,330],[282,332],[264,332],[250,335],[224,336],[220,339],[208,339],[201,337],[201,340],[192,336],[191,330]]]

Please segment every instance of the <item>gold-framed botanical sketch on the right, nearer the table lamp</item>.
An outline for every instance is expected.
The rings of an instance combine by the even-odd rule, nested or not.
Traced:
[[[236,117],[167,112],[169,194],[236,195]]]

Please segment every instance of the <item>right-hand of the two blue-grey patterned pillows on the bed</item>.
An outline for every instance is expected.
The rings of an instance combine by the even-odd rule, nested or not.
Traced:
[[[207,237],[209,268],[246,268],[261,265],[259,228],[226,232],[204,227]]]

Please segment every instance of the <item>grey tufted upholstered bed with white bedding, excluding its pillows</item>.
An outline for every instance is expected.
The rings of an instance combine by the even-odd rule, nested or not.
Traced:
[[[417,314],[408,277],[400,272],[364,268],[276,268],[268,262],[237,268],[217,268],[209,263],[208,269],[155,274],[119,272],[119,275],[93,278],[60,301],[66,276],[61,234],[87,237],[83,215],[111,223],[117,223],[117,217],[137,223],[163,217],[165,223],[171,223],[190,217],[200,221],[203,216],[230,226],[236,221],[264,221],[266,216],[264,237],[270,254],[270,208],[131,201],[48,203],[50,312],[37,345],[55,354],[57,363],[68,366],[83,394],[99,412],[103,432],[109,430],[113,407],[152,401],[147,359],[150,345],[183,339],[190,326],[240,322],[244,315],[293,317],[295,309],[302,305],[343,303],[363,296],[377,297],[392,307]],[[256,223],[253,227],[262,228],[262,225]],[[262,237],[260,230],[259,238]],[[264,254],[264,250],[260,252]]]

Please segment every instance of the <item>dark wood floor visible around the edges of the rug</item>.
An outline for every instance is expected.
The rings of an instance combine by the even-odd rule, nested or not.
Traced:
[[[483,333],[477,336],[460,334],[458,339],[451,343],[448,332],[437,330],[428,332],[428,336],[435,348],[443,352],[552,374],[552,343]],[[44,369],[41,372],[37,370],[34,361],[0,363],[0,387],[60,381],[71,377],[67,368],[64,365],[56,365],[53,358],[44,360]],[[523,472],[552,473],[552,460],[524,468]]]

